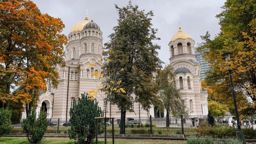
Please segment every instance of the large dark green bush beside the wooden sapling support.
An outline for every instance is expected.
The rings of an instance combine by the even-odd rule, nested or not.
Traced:
[[[70,122],[71,127],[68,130],[70,139],[74,139],[79,144],[91,144],[95,139],[95,117],[102,117],[103,111],[98,106],[96,99],[91,99],[92,96],[88,94],[81,94],[78,99],[78,104],[74,104],[70,108]],[[103,121],[98,120],[98,132],[103,131]]]

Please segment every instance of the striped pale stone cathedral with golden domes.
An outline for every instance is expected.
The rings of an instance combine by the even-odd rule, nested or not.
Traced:
[[[100,26],[88,17],[75,23],[68,34],[66,45],[66,65],[57,66],[59,72],[58,88],[53,89],[51,81],[46,83],[47,90],[39,96],[36,112],[42,106],[47,111],[47,118],[69,119],[70,107],[78,101],[81,94],[90,90],[97,90],[101,81],[91,76],[95,71],[101,72],[103,32]],[[179,31],[174,34],[169,42],[170,64],[174,68],[176,87],[180,89],[190,115],[207,115],[207,90],[202,90],[200,79],[200,63],[196,61],[194,50],[195,41],[189,34]],[[96,97],[99,106],[106,109],[107,116],[120,117],[121,111],[116,105],[106,104],[100,96]],[[130,97],[134,112],[126,112],[126,117],[164,117],[166,111],[157,111],[151,106],[143,110],[139,103],[134,101],[135,95]],[[22,113],[22,119],[26,112]]]

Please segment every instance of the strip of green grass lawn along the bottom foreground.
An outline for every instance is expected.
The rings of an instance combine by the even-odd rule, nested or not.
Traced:
[[[31,143],[29,143],[25,138],[0,138],[0,144],[31,144]],[[74,140],[44,139],[41,144],[74,144]],[[104,144],[104,142],[99,141],[99,144]],[[108,144],[112,144],[112,142],[108,141]],[[185,144],[185,143],[117,141],[115,142],[115,144]]]

